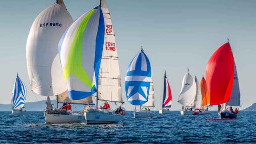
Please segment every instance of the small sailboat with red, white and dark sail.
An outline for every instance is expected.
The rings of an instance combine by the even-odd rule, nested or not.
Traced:
[[[172,92],[170,88],[170,84],[168,82],[168,79],[166,77],[166,71],[164,70],[164,94],[163,94],[163,102],[162,102],[162,108],[159,110],[159,114],[166,114],[170,110],[172,106]]]

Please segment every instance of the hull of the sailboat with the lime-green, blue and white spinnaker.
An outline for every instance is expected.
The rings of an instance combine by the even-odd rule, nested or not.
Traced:
[[[87,124],[117,124],[123,117],[109,110],[89,110],[84,112]]]

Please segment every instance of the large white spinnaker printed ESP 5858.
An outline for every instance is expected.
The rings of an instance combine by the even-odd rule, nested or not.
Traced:
[[[57,70],[53,63],[60,66],[58,43],[72,22],[66,8],[57,3],[43,10],[34,20],[26,44],[26,58],[30,86],[36,94],[52,96],[66,90],[62,70]]]

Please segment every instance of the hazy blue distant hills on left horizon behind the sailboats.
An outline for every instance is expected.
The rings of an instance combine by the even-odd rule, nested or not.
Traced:
[[[53,104],[53,108],[55,108],[56,100],[51,100]],[[58,104],[59,107],[62,106],[62,104]],[[46,108],[45,100],[41,100],[38,102],[26,102],[25,109],[26,111],[44,111]],[[83,105],[75,105],[72,107],[73,110],[80,111],[83,108]],[[11,104],[0,104],[0,111],[11,111],[12,106]]]

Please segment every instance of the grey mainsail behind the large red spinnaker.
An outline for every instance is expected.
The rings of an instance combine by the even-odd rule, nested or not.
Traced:
[[[236,72],[236,63],[234,62],[234,82],[229,101],[226,103],[229,106],[241,106],[240,104],[240,88],[238,82],[238,75]]]

